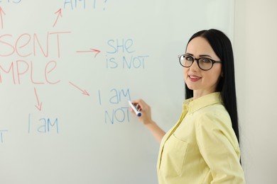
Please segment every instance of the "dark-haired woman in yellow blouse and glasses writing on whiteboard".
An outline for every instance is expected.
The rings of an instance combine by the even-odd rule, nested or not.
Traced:
[[[141,111],[138,119],[161,143],[159,184],[245,183],[229,38],[219,30],[199,31],[178,59],[183,67],[185,101],[180,120],[171,130],[165,133],[158,127],[146,102],[131,102]]]

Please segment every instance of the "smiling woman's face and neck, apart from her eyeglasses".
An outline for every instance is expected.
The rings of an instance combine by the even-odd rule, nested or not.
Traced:
[[[194,58],[207,57],[220,61],[209,42],[202,37],[193,38],[188,43],[186,54],[190,54]],[[212,69],[204,71],[194,60],[189,68],[183,68],[183,72],[185,84],[193,90],[193,97],[199,98],[216,91],[219,78],[222,76],[222,64],[214,63]]]

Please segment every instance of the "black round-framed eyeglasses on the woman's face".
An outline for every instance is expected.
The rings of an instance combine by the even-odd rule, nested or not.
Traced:
[[[178,58],[180,64],[185,68],[192,66],[192,63],[196,60],[198,67],[204,71],[211,69],[214,63],[221,63],[220,61],[214,61],[214,59],[207,57],[194,58],[188,54],[179,55]]]

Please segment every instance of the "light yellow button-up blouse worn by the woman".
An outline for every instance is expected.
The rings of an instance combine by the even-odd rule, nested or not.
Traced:
[[[159,184],[245,183],[237,137],[220,93],[185,100],[177,124],[162,139]]]

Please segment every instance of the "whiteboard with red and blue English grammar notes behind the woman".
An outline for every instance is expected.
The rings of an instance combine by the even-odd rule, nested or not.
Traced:
[[[158,183],[158,143],[184,99],[178,54],[197,30],[233,38],[234,2],[0,1],[0,183]]]

